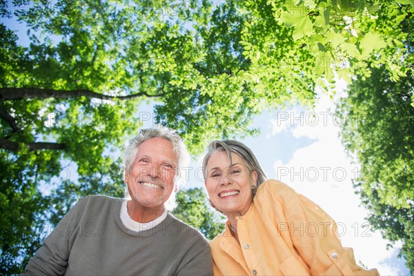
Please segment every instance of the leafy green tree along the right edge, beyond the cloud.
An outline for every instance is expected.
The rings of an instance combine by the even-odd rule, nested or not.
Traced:
[[[414,273],[414,76],[392,81],[384,66],[358,77],[338,111],[346,115],[344,146],[361,165],[356,192],[368,221],[385,239],[402,241],[400,256]]]

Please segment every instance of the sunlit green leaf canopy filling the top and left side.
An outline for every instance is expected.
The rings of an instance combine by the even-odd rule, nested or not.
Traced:
[[[335,75],[351,81],[384,66],[390,79],[406,77],[411,29],[402,21],[413,6],[2,1],[0,206],[10,214],[1,218],[2,272],[18,270],[44,223],[56,222],[77,198],[121,195],[117,156],[141,126],[139,103],[155,100],[154,121],[175,128],[194,154],[211,139],[253,135],[253,115],[311,106],[315,88],[328,89]],[[19,45],[11,18],[27,27],[30,45]]]

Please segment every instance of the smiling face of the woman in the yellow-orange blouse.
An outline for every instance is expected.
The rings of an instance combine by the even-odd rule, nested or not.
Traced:
[[[211,203],[226,216],[244,215],[252,202],[252,186],[257,172],[249,172],[244,159],[231,153],[233,164],[226,151],[214,152],[206,166],[206,189]]]

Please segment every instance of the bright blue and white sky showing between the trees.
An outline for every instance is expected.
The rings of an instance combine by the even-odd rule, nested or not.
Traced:
[[[15,21],[6,21],[19,31],[19,43],[28,43],[25,32]],[[372,232],[364,217],[368,212],[360,205],[351,179],[366,177],[361,168],[347,157],[339,138],[346,118],[335,113],[334,99],[319,93],[313,110],[300,107],[264,110],[255,117],[252,127],[259,128],[256,137],[239,139],[250,147],[270,179],[282,181],[321,206],[337,222],[343,246],[354,249],[357,263],[377,268],[381,275],[408,275],[404,259],[398,259],[398,246],[386,250],[387,241],[379,231]],[[139,107],[144,127],[153,124],[152,106]],[[203,187],[200,159],[190,165],[184,188]]]

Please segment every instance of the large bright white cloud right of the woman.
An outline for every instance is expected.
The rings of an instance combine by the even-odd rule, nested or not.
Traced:
[[[395,251],[386,250],[386,241],[380,233],[370,230],[371,226],[364,219],[367,211],[359,206],[360,199],[354,193],[351,179],[359,170],[346,156],[338,136],[342,121],[335,121],[333,108],[333,101],[322,96],[315,110],[302,112],[300,117],[297,111],[286,112],[294,116],[290,123],[295,124],[288,124],[284,131],[291,132],[297,139],[316,141],[295,150],[286,163],[280,159],[275,161],[277,179],[315,201],[337,221],[342,244],[354,249],[357,263],[361,261],[368,268],[377,268],[382,275],[397,275],[401,271],[395,267],[403,261],[395,258]],[[311,121],[311,115],[317,119]],[[393,267],[385,261],[391,258],[395,263]]]

